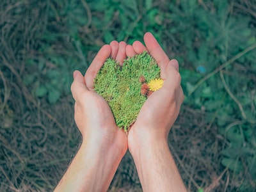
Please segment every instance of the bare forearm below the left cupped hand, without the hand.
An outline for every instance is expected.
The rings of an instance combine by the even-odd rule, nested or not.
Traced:
[[[107,191],[123,156],[113,146],[82,144],[54,191]]]

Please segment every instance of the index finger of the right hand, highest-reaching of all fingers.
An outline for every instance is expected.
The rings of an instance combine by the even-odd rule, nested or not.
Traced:
[[[163,51],[162,47],[158,44],[156,38],[152,33],[145,33],[144,42],[151,56],[155,58],[160,68],[166,68],[170,61],[167,54]]]

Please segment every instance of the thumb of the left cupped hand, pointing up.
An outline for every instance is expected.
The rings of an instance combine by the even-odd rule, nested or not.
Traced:
[[[76,102],[79,100],[79,95],[83,92],[87,92],[88,88],[85,85],[84,76],[78,70],[73,73],[74,81],[71,84],[70,90]]]

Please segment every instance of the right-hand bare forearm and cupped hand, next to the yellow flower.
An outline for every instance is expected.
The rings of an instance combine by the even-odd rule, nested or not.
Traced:
[[[168,134],[184,100],[179,63],[168,58],[151,33],[145,33],[144,42],[146,47],[141,42],[127,45],[126,54],[148,51],[161,68],[164,85],[143,104],[129,131],[129,151],[143,191],[186,191],[168,147]]]

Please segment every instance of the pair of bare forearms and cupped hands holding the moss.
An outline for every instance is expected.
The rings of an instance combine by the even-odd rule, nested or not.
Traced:
[[[82,143],[55,191],[107,191],[127,148],[134,158],[143,191],[186,191],[168,148],[168,133],[184,99],[179,64],[169,60],[151,33],[141,42],[104,45],[85,76],[74,72],[71,86],[75,120]],[[161,68],[164,86],[141,108],[128,136],[115,124],[108,103],[93,92],[97,72],[111,56],[122,65],[127,56],[148,51]]]

